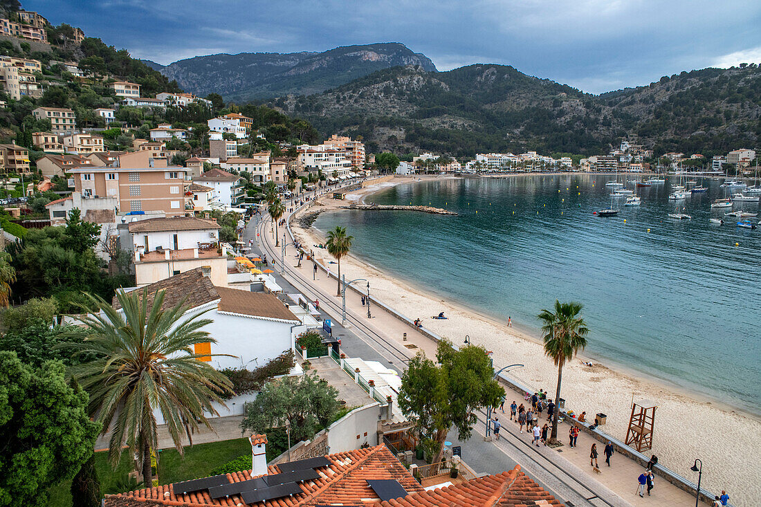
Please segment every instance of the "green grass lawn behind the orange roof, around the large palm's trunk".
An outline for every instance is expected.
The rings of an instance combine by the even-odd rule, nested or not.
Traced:
[[[251,444],[247,438],[199,444],[192,448],[188,446],[184,456],[180,456],[175,449],[164,449],[158,458],[158,480],[161,484],[168,484],[208,477],[215,467],[250,453]],[[126,451],[122,454],[122,461],[116,470],[108,464],[106,452],[95,454],[95,467],[104,494],[123,493],[118,490],[117,481],[126,477],[131,468]],[[70,488],[71,481],[68,480],[51,488],[49,507],[72,507]]]

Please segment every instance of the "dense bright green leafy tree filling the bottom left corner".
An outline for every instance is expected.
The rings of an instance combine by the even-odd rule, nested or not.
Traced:
[[[93,453],[100,425],[64,371],[61,362],[33,368],[0,352],[0,505],[47,505],[49,486],[74,477]]]

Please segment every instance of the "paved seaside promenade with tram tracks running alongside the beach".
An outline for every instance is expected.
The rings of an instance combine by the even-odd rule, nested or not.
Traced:
[[[274,247],[271,224],[272,222],[268,219],[260,219],[256,223],[250,222],[249,227],[244,231],[244,240],[256,238],[256,232],[259,232],[259,244],[256,247],[262,253],[266,253],[269,260],[275,260],[275,266],[270,264],[270,268],[275,269],[278,283],[283,287],[292,286],[307,298],[319,299],[320,310],[325,311],[334,322],[340,323],[341,298],[336,297],[336,279],[328,279],[324,269],[318,269],[317,276],[314,276],[313,263],[305,259],[302,260],[301,267],[297,268],[297,252],[292,244],[288,244],[285,248],[285,263],[288,266],[285,279],[279,275],[281,248]],[[304,245],[304,247],[311,247],[311,245]],[[336,273],[334,264],[328,266],[332,273]],[[424,336],[416,327],[404,323],[377,306],[371,307],[372,317],[368,319],[367,309],[361,305],[361,296],[350,291],[346,294],[346,311],[349,321],[354,325],[349,329],[337,326],[334,334],[338,333],[338,336],[342,337],[342,349],[347,350],[350,355],[368,359],[361,352],[355,352],[354,349],[357,346],[359,349],[367,350],[366,347],[369,346],[374,352],[373,356],[377,354],[397,371],[403,371],[406,361],[420,350],[429,357],[435,355],[435,342]],[[403,333],[407,333],[406,342],[402,341]],[[459,336],[451,338],[460,339]],[[359,343],[360,340],[364,343]],[[510,396],[511,394],[508,394],[508,397]],[[508,403],[509,401],[511,400],[508,398]],[[506,414],[503,417],[499,413],[498,416],[503,423],[503,438],[498,442],[483,441],[485,416],[480,416],[479,425],[476,426],[473,437],[468,441],[458,442],[456,434],[449,436],[449,440],[454,445],[462,446],[463,459],[479,473],[498,473],[508,470],[515,463],[521,464],[527,474],[543,483],[566,505],[572,506],[674,505],[688,507],[695,504],[694,496],[690,496],[689,493],[667,483],[660,477],[656,477],[652,496],[645,495],[644,499],[636,496],[637,477],[644,469],[635,461],[619,454],[613,455],[612,466],[607,467],[602,452],[604,446],[600,443],[598,443],[598,452],[601,459],[598,458],[598,461],[600,461],[601,473],[595,473],[589,466],[589,451],[594,441],[591,436],[583,432],[578,437],[577,448],[570,448],[568,445],[558,449],[543,446],[537,448],[529,444],[530,436],[527,433],[521,434],[517,426],[506,420],[509,415]],[[568,426],[561,425],[559,436],[563,437],[567,434]]]

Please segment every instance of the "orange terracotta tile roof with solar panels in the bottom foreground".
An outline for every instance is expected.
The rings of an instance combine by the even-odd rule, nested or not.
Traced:
[[[521,467],[501,474],[473,479],[465,483],[425,491],[385,445],[339,452],[326,456],[327,467],[318,468],[322,477],[301,483],[302,493],[260,502],[257,507],[314,507],[314,505],[366,505],[368,507],[522,507],[524,505],[562,505],[521,472]],[[269,467],[270,474],[279,468]],[[228,474],[231,482],[251,479],[250,470]],[[407,496],[380,502],[368,479],[397,480]],[[239,496],[212,499],[206,491],[175,496],[172,486],[139,489],[130,493],[106,496],[105,507],[159,507],[177,505],[247,505]]]

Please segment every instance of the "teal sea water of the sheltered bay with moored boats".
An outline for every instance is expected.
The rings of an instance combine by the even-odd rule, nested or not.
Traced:
[[[670,177],[638,189],[642,206],[625,207],[620,197],[613,200],[619,215],[596,216],[611,206],[605,182],[613,179],[403,183],[365,202],[459,215],[339,211],[320,215],[314,226],[345,226],[358,257],[499,320],[510,316],[537,336],[542,308],[556,298],[580,301],[591,329],[587,354],[761,412],[761,230],[737,228],[730,217],[710,224],[731,211],[710,208],[724,197],[720,180],[699,180],[708,192],[673,202],[670,184],[678,180]],[[667,218],[673,212],[693,219]]]

